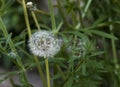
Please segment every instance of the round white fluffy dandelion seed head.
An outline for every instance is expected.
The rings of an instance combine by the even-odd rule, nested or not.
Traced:
[[[50,58],[60,51],[61,40],[49,31],[38,31],[29,39],[30,51],[37,56]]]

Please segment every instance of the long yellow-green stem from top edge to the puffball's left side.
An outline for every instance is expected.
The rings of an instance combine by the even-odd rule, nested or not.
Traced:
[[[28,19],[25,0],[22,0],[22,5],[23,5],[23,10],[24,10],[24,16],[25,16],[26,26],[27,26],[27,30],[28,30],[28,35],[30,37],[31,36],[31,29],[30,29],[30,23],[29,23],[29,19]]]

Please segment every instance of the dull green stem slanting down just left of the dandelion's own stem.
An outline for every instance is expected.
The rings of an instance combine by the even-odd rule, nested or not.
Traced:
[[[41,80],[43,81],[43,85],[44,85],[44,87],[47,87],[46,82],[45,82],[45,79],[44,79],[44,74],[43,74],[43,72],[42,72],[42,68],[41,68],[41,65],[40,65],[40,63],[39,63],[39,60],[38,60],[38,58],[37,58],[36,56],[34,57],[34,60],[35,60],[35,62],[36,62],[36,64],[37,64],[38,72],[39,72],[39,74],[40,74]]]

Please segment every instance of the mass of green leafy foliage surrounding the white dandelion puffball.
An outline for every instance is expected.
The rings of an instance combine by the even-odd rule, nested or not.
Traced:
[[[57,5],[48,5],[49,13],[33,12],[42,29],[62,40],[61,51],[49,58],[54,87],[119,87],[120,0],[57,0]],[[52,7],[57,8],[56,14]],[[37,31],[29,9],[28,16],[31,31]],[[5,75],[0,83],[10,79],[14,87],[14,75],[19,75],[20,87],[32,87],[26,71],[40,66],[39,73],[45,72],[44,59],[34,62],[36,57],[29,51],[23,18],[21,0],[0,0],[0,63],[9,69],[16,67],[15,71],[0,73]]]

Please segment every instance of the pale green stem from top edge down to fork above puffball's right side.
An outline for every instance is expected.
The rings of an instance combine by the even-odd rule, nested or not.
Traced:
[[[56,22],[55,22],[54,11],[53,11],[51,0],[48,0],[48,4],[49,4],[50,16],[52,20],[52,30],[56,30]]]

